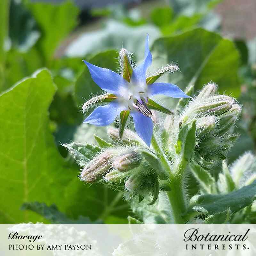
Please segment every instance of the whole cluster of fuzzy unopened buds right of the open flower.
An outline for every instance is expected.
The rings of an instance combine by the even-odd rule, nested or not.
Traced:
[[[215,84],[207,84],[187,104],[179,119],[179,127],[196,120],[194,153],[201,164],[204,161],[210,165],[220,164],[238,137],[233,129],[241,114],[241,106],[232,97],[216,95],[216,90]]]

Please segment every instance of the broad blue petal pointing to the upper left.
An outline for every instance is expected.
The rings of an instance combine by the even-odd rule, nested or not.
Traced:
[[[127,82],[122,76],[108,68],[97,67],[84,60],[87,65],[93,81],[100,86],[100,88],[108,93],[120,95],[126,88]]]

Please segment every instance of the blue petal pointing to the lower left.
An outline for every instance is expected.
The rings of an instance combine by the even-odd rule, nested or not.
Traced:
[[[106,126],[113,123],[116,116],[123,110],[125,110],[125,107],[114,100],[106,106],[95,108],[92,113],[86,117],[84,123]]]

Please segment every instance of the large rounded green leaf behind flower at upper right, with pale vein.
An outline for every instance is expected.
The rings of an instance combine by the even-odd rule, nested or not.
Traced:
[[[172,74],[170,82],[183,89],[188,84],[200,89],[213,81],[219,85],[220,92],[239,96],[239,53],[233,42],[216,33],[196,28],[160,38],[153,44],[153,56],[158,66],[178,63],[181,72]]]

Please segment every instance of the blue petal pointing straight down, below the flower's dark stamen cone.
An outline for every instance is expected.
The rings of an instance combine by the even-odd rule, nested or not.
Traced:
[[[144,116],[140,112],[131,113],[135,131],[139,137],[150,147],[153,134],[153,122],[150,117]]]

